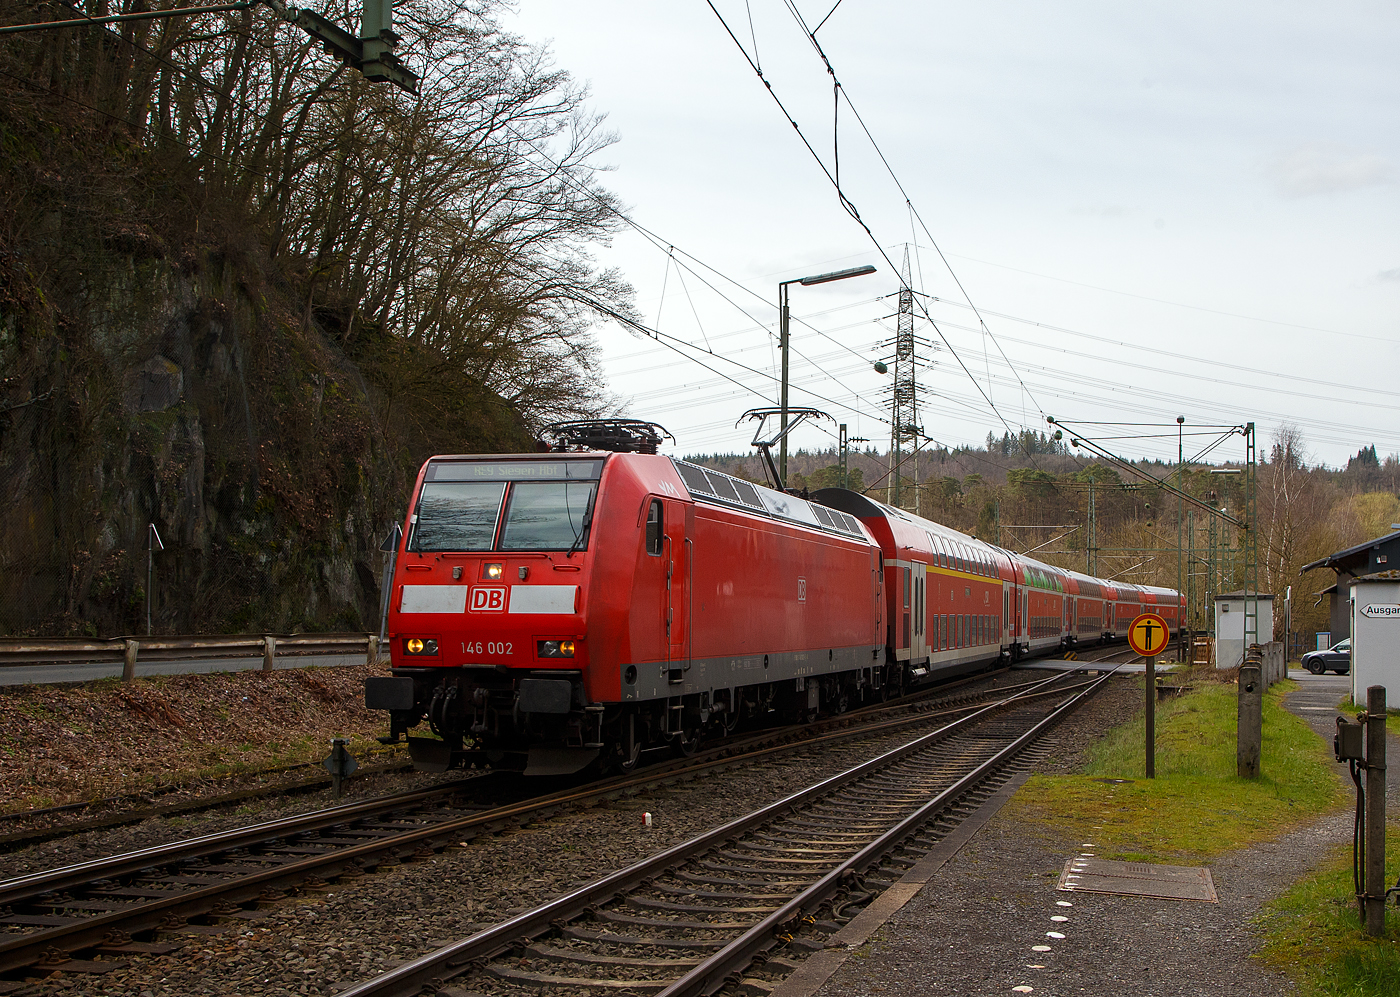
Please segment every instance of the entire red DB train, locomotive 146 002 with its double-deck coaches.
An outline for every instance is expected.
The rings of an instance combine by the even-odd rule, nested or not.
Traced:
[[[389,594],[391,714],[420,767],[573,772],[706,730],[1127,633],[1176,594],[1011,555],[827,489],[654,454],[434,456]]]

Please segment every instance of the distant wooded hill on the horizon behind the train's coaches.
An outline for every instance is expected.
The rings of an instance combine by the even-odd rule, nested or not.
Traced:
[[[1400,522],[1400,456],[1380,458],[1371,445],[1362,447],[1344,469],[1309,466],[1303,459],[1305,441],[1288,426],[1273,440],[1261,441],[1260,451],[1267,455],[1256,486],[1260,588],[1277,594],[1282,606],[1282,595],[1292,585],[1294,629],[1326,630],[1326,604],[1315,605],[1313,594],[1336,577],[1330,570],[1299,576],[1299,569],[1334,550],[1392,532],[1390,524]],[[764,477],[753,454],[692,454],[686,459],[752,480]],[[1063,441],[1043,434],[1025,433],[1021,440],[988,435],[984,447],[928,449],[917,461],[907,459],[899,504],[1007,549],[1035,552],[1035,557],[1063,567],[1085,570],[1091,563],[1086,548],[1093,546],[1100,577],[1175,588],[1177,498],[1151,479],[1170,477],[1175,483],[1176,468],[1159,462],[1138,466],[1144,476],[1120,473],[1106,463],[1075,456]],[[848,468],[851,487],[881,501],[890,498],[888,454],[851,451]],[[1187,494],[1243,517],[1242,476],[1210,472],[1211,465],[1187,465],[1183,475]],[[788,477],[799,489],[839,484],[836,451],[790,454]],[[1200,508],[1193,515],[1191,506],[1183,503],[1180,577],[1194,578],[1190,587],[1197,613],[1205,611],[1207,591],[1231,591],[1242,583],[1243,564],[1232,553],[1239,549],[1238,532],[1217,520],[1212,539],[1210,520]]]

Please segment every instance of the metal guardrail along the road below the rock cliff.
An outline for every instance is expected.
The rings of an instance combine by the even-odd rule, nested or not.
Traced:
[[[122,679],[136,678],[136,661],[185,661],[197,658],[262,657],[265,672],[273,669],[279,654],[356,654],[367,664],[379,657],[379,637],[372,633],[293,633],[111,637],[0,637],[0,668],[18,665],[76,665],[122,662]]]

